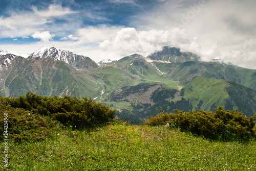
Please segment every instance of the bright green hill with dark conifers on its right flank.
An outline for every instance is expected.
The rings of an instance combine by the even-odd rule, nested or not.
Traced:
[[[226,110],[238,109],[246,116],[256,113],[256,91],[227,80],[197,77],[185,87],[184,98],[195,110],[214,111],[224,106]]]

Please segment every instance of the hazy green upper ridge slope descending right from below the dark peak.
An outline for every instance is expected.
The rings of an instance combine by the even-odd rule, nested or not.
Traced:
[[[256,90],[256,70],[227,65],[219,62],[156,63],[169,79],[188,84],[193,78],[229,80]]]

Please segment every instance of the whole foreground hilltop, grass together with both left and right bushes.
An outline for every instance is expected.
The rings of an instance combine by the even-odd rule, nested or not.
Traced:
[[[8,113],[8,170],[256,170],[255,116],[219,107],[163,113],[136,126],[86,98],[29,92],[0,101],[1,118]]]

